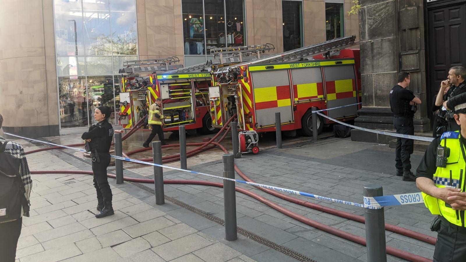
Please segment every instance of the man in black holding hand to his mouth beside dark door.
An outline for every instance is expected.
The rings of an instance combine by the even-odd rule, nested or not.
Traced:
[[[454,66],[450,68],[448,71],[448,78],[440,84],[440,90],[437,94],[435,105],[443,106],[443,110],[445,110],[447,108],[446,103],[450,98],[466,92],[466,82],[464,82],[465,78],[466,69],[464,67]],[[444,94],[445,90],[447,90],[446,94]],[[448,131],[459,130],[459,125],[453,118],[453,114],[454,112],[452,110],[447,111]]]

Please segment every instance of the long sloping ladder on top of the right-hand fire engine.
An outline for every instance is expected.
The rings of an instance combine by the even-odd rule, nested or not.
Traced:
[[[296,61],[298,59],[302,59],[311,55],[319,55],[334,50],[348,48],[357,44],[358,42],[356,42],[356,35],[340,37],[322,43],[313,44],[307,47],[297,48],[291,51],[283,52],[281,54],[271,55],[266,58],[260,58],[248,62],[234,64],[216,71],[215,74],[226,74],[232,72],[237,68],[240,68],[241,66],[249,64]]]

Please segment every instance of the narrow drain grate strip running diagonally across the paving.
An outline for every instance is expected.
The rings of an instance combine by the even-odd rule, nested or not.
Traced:
[[[140,184],[140,183],[134,183],[134,182],[130,182],[131,184],[137,186],[137,187],[140,187],[142,189],[144,189],[145,191],[148,191],[148,192],[151,192],[153,194],[155,194],[155,190],[153,188],[150,188],[148,186],[144,186],[143,184]],[[199,214],[205,218],[207,218],[208,220],[210,221],[214,221],[215,223],[218,223],[219,225],[222,225],[222,226],[225,226],[225,221],[219,217],[216,217],[212,214],[209,214],[203,210],[200,210],[199,208],[197,207],[193,207],[193,206],[190,206],[188,204],[186,204],[185,202],[182,202],[180,200],[177,200],[175,198],[172,198],[172,197],[169,197],[169,196],[165,196],[165,200],[168,200],[170,202],[172,202],[173,204],[176,204],[180,207],[184,207],[186,209],[188,209],[189,211],[193,212],[193,213],[196,213],[196,214]],[[250,231],[247,231],[246,229],[244,228],[240,228],[240,227],[237,227],[237,232],[239,234],[242,234],[244,236],[246,236],[247,238],[251,239],[251,240],[254,240],[264,246],[267,246],[269,248],[273,248],[275,250],[277,250],[278,252],[284,254],[284,255],[288,255],[289,257],[292,257],[294,259],[296,259],[297,261],[303,261],[303,262],[317,262],[315,261],[314,259],[306,256],[306,255],[302,255],[301,253],[299,252],[296,252],[295,250],[293,249],[290,249],[290,248],[287,248],[285,246],[282,246],[282,245],[279,245],[275,242],[272,242],[266,238],[263,238],[257,234],[254,234]]]

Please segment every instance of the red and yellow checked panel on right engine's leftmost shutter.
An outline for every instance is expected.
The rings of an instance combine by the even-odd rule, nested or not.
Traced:
[[[273,86],[254,89],[256,110],[291,106],[289,86]]]

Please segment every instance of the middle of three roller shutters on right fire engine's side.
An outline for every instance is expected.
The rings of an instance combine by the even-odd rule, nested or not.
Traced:
[[[295,101],[323,98],[321,68],[292,69]]]

